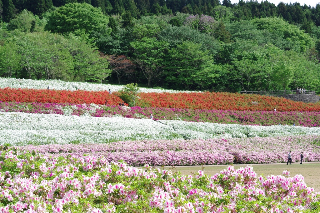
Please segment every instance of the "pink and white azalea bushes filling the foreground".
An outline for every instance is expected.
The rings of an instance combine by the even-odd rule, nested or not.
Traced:
[[[320,193],[302,175],[258,177],[229,166],[213,176],[138,169],[104,156],[43,157],[0,146],[0,212],[221,213],[320,211]]]

